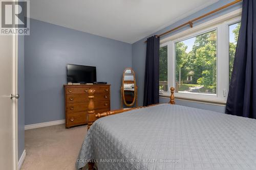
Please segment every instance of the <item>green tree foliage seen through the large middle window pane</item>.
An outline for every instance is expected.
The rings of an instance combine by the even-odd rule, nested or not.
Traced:
[[[181,68],[183,81],[187,79],[188,72],[192,71],[194,73],[192,84],[199,84],[205,89],[216,91],[216,39],[216,31],[197,36],[189,53],[186,53],[187,46],[183,42],[175,44],[176,70],[178,72]]]

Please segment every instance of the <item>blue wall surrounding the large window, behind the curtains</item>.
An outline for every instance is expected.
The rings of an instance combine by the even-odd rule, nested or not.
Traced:
[[[170,29],[173,29],[173,28],[181,25],[182,23],[185,23],[185,22],[187,22],[187,21],[189,21],[191,19],[194,19],[196,17],[199,17],[199,16],[201,16],[201,15],[207,13],[207,12],[215,10],[215,9],[217,9],[217,8],[223,6],[223,5],[226,5],[226,4],[228,4],[228,3],[232,2],[232,1],[233,0],[222,0],[222,1],[219,1],[219,2],[217,2],[215,4],[212,4],[212,5],[204,8],[204,9],[202,9],[202,10],[200,10],[200,11],[198,11],[198,12],[196,12],[196,13],[188,16],[188,17],[186,17],[186,18],[183,18],[183,19],[173,23],[172,25],[170,25],[170,26],[168,26],[168,27],[166,27],[166,28],[164,28],[164,29],[162,29],[162,30],[152,34],[152,35],[158,35],[158,34],[161,34],[163,32],[166,32],[166,31],[168,31]],[[216,14],[213,14],[213,15],[210,15],[210,16],[204,18],[204,19],[201,19],[200,21],[195,22],[194,26],[200,25],[203,22],[206,22],[208,20],[214,19],[214,18],[219,17],[219,16],[221,16],[223,14],[227,14],[227,13],[229,13],[231,11],[234,11],[234,10],[237,10],[239,8],[242,8],[242,4],[241,3],[239,3],[237,5],[233,5],[233,6],[227,8],[225,10],[222,10],[222,11],[216,13]],[[165,35],[165,36],[163,36],[161,38],[165,38],[167,36],[170,36],[170,35],[173,35],[173,34],[177,34],[177,33],[182,32],[182,31],[184,31],[184,30],[186,30],[188,28],[189,28],[189,26],[184,27],[182,29],[174,31],[173,33]],[[148,35],[148,36],[152,36],[152,35]],[[137,41],[137,42],[132,44],[132,51],[133,51],[132,52],[132,54],[133,54],[132,65],[133,65],[133,69],[136,72],[136,81],[137,81],[137,85],[138,85],[138,104],[140,106],[143,105],[143,90],[144,90],[143,87],[144,87],[145,56],[146,56],[146,44],[144,43],[144,41],[146,40],[146,38],[147,37],[145,37],[145,38],[143,38],[143,39],[141,39],[141,40],[139,40],[139,41]],[[164,101],[164,99],[160,99],[160,101]],[[198,108],[201,108],[202,106],[205,106],[203,108],[208,109],[208,110],[214,110],[214,109],[212,109],[213,108],[212,106],[214,106],[214,105],[205,105],[205,104],[201,105],[201,104],[198,104],[198,103],[195,103],[195,102],[191,103],[191,102],[184,102],[184,101],[178,102],[178,103],[181,104],[181,105],[184,105],[184,106],[194,106],[194,107],[198,107]],[[218,106],[214,106],[214,108],[215,107],[218,108]],[[220,112],[223,112],[223,107],[218,108],[217,110],[219,110]]]

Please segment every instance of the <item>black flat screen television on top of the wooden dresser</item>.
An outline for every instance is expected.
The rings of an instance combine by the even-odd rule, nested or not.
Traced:
[[[68,64],[67,70],[68,82],[81,84],[97,82],[94,66]]]

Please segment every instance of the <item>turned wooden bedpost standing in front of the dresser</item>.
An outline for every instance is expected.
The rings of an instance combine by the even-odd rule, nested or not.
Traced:
[[[96,116],[95,116],[95,112],[94,112],[94,103],[93,103],[94,92],[95,92],[94,89],[89,89],[89,91],[88,91],[89,105],[88,105],[88,126],[87,126],[87,130],[90,129],[91,125],[97,119]]]

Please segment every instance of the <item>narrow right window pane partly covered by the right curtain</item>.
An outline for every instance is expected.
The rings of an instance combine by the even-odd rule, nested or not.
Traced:
[[[240,26],[241,22],[229,26],[229,81],[232,75],[234,54],[236,53]]]

